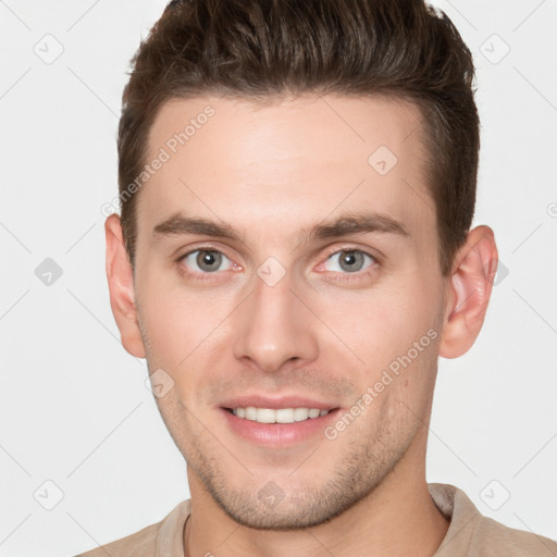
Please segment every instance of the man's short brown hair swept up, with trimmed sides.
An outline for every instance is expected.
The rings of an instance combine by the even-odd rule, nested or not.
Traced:
[[[170,99],[255,102],[318,92],[387,95],[418,104],[443,275],[475,205],[480,122],[460,34],[423,0],[173,0],[132,59],[120,120],[119,189],[135,268],[137,193],[148,134]],[[127,194],[127,195],[126,195]]]

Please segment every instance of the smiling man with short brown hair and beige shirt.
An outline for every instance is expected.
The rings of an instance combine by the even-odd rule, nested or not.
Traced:
[[[173,1],[134,58],[112,311],[190,499],[84,555],[557,555],[428,484],[497,268],[473,64],[421,0]]]

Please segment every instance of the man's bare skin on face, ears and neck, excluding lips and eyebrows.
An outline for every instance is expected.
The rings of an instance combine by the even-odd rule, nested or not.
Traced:
[[[162,368],[174,381],[156,399],[188,465],[188,554],[431,556],[449,525],[425,481],[437,357],[465,354],[481,330],[497,267],[493,231],[470,231],[450,276],[442,276],[411,103],[174,100],[156,119],[148,159],[208,104],[214,116],[139,193],[135,280],[119,216],[106,222],[122,343],[150,373]],[[385,175],[368,163],[381,145],[398,159]],[[230,223],[242,240],[153,237],[177,210]],[[409,235],[300,243],[304,228],[362,210],[388,214]],[[195,256],[177,261],[200,247],[226,256],[222,270],[203,271]],[[347,271],[338,252],[350,249],[376,260]],[[257,273],[269,257],[286,271],[274,286]],[[318,434],[264,447],[235,434],[218,408],[257,392],[348,411],[430,330],[436,338],[332,441]],[[282,495],[274,505],[258,496],[270,481]]]

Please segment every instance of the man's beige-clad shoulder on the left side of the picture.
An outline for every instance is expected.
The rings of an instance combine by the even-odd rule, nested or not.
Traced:
[[[174,507],[160,522],[150,524],[134,534],[98,546],[75,557],[153,557],[174,555],[182,548],[184,522],[190,512],[190,499]]]

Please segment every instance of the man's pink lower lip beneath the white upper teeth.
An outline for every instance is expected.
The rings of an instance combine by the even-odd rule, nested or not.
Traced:
[[[238,418],[224,408],[220,408],[220,411],[230,428],[240,437],[258,445],[287,447],[297,445],[321,433],[323,428],[336,418],[339,408],[331,410],[325,416],[294,423],[260,423]]]

